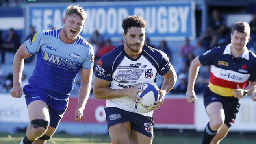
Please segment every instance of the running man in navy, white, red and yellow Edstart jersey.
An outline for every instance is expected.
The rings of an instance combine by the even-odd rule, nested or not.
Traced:
[[[209,85],[203,95],[210,122],[204,129],[202,144],[219,144],[234,124],[239,98],[256,91],[256,55],[246,47],[249,40],[249,24],[237,22],[232,28],[230,44],[212,48],[191,63],[186,92],[189,103],[197,100],[194,85],[199,67],[211,65]],[[252,100],[255,96],[252,94]]]

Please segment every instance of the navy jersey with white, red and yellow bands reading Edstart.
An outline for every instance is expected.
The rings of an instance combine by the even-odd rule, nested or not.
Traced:
[[[237,84],[244,89],[247,81],[256,81],[256,55],[247,48],[234,58],[231,44],[206,51],[199,56],[200,63],[211,65],[209,89],[220,96],[233,96]],[[206,90],[209,90],[206,89]]]

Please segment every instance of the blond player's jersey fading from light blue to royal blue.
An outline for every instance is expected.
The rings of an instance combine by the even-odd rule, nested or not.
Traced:
[[[93,48],[80,35],[73,44],[65,44],[59,31],[39,31],[28,39],[26,49],[37,53],[35,70],[29,83],[55,99],[67,99],[81,68],[93,68]]]

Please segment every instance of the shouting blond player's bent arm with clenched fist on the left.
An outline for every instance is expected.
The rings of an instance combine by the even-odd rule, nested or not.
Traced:
[[[30,57],[31,54],[26,50],[25,44],[22,44],[17,50],[13,58],[13,88],[11,89],[11,96],[20,98],[22,95],[22,88],[20,87],[21,75],[24,68],[24,58]]]

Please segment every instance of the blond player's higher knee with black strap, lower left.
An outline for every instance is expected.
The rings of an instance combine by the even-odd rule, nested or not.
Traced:
[[[49,122],[48,120],[35,119],[30,122],[30,125],[33,127],[35,135],[43,135],[49,127]]]

